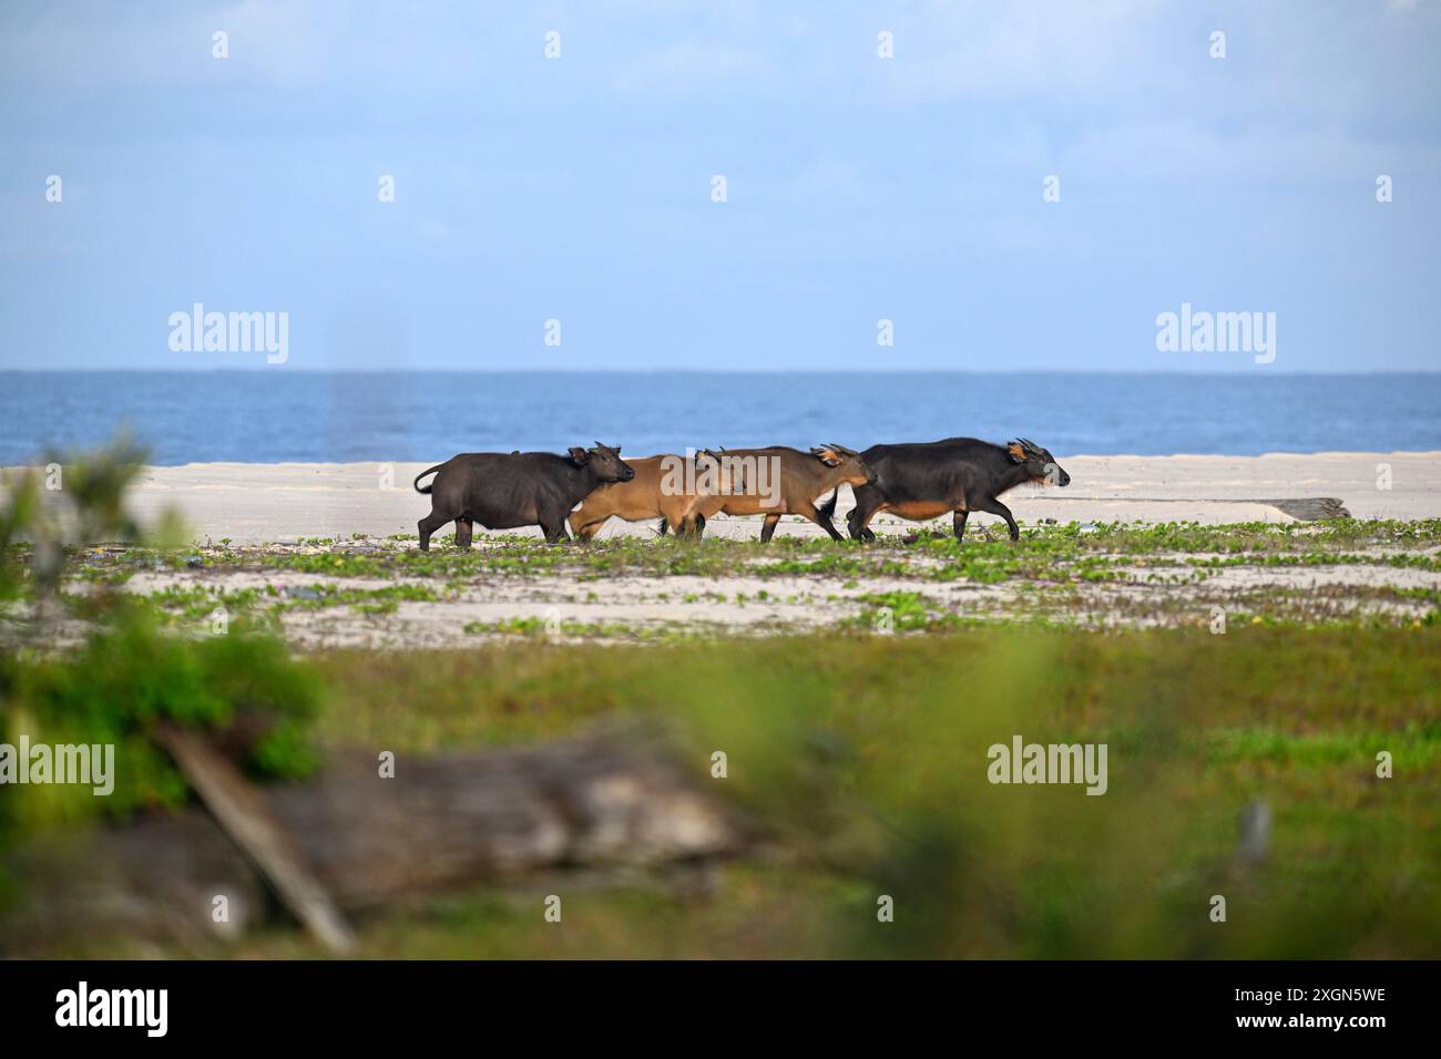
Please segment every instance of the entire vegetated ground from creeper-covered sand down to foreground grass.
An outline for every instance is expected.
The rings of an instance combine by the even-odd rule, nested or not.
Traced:
[[[367,957],[1435,958],[1438,549],[1434,520],[1072,524],[960,546],[934,532],[839,548],[220,542],[82,549],[61,601],[75,637],[118,596],[197,650],[216,607],[232,638],[280,634],[298,648],[288,679],[320,689],[321,749],[656,729],[758,836],[726,864],[418,901],[360,921]],[[635,601],[682,617],[638,621]],[[558,602],[572,609],[542,620]],[[741,617],[719,628],[706,608]],[[324,621],[395,643],[337,647],[314,630],[346,627]],[[427,621],[447,630],[440,648]],[[78,664],[107,660],[121,700],[133,656],[112,644]],[[193,683],[182,656],[154,658]],[[35,644],[17,657],[16,687],[88,686],[26,676],[53,664]],[[252,656],[196,657],[238,674]],[[173,676],[141,680],[125,716],[190,709]],[[989,748],[1016,736],[1104,743],[1105,794],[990,782]],[[542,916],[552,893],[561,924]],[[280,926],[200,952],[320,955]]]

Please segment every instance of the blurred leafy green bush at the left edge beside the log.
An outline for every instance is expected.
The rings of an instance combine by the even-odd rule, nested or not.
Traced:
[[[242,622],[203,638],[167,634],[153,608],[107,585],[84,599],[78,643],[56,624],[58,588],[76,548],[105,540],[164,548],[184,539],[171,514],[146,533],[128,513],[125,490],[143,461],[144,451],[122,438],[4,483],[0,742],[14,745],[24,735],[30,745],[114,745],[115,787],[108,797],[84,785],[7,788],[0,844],[35,828],[184,801],[184,779],[147,738],[159,720],[229,733],[235,755],[256,775],[303,775],[317,764],[305,728],[321,684],[291,660],[284,641]]]

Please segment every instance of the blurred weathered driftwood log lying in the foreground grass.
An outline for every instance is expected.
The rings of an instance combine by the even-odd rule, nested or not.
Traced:
[[[438,758],[334,755],[307,782],[258,788],[316,882],[346,912],[481,880],[568,867],[726,857],[744,828],[656,743],[615,738]],[[272,903],[251,859],[206,810],[32,843],[0,952],[73,931],[141,938],[233,935]],[[216,909],[226,909],[218,919]]]

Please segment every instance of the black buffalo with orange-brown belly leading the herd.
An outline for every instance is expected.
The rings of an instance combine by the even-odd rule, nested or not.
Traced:
[[[976,438],[948,438],[918,445],[872,445],[860,458],[873,478],[856,487],[856,507],[846,517],[850,536],[873,540],[870,519],[892,511],[902,519],[935,519],[954,513],[955,539],[965,532],[971,511],[999,514],[1010,527],[1010,539],[1020,539],[1016,520],[997,497],[1032,481],[1069,486],[1071,475],[1050,452],[1020,438],[1007,445],[993,445]],[[830,500],[830,511],[836,499]],[[826,511],[826,514],[830,514]]]

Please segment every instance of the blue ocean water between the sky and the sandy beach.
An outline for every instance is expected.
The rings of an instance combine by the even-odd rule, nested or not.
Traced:
[[[121,425],[157,464],[955,435],[1058,457],[1435,451],[1438,411],[1441,375],[3,372],[0,464]]]

